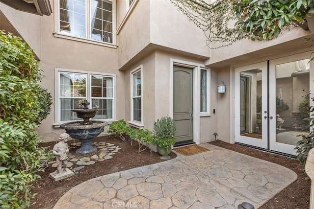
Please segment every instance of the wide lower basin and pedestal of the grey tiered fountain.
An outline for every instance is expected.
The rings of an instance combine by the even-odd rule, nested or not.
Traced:
[[[104,121],[93,120],[92,124],[81,125],[82,121],[68,122],[60,125],[61,128],[65,129],[66,133],[73,139],[79,139],[81,141],[80,148],[75,152],[79,154],[86,154],[95,152],[96,147],[92,146],[92,139],[97,137],[104,131],[104,127],[108,124]]]

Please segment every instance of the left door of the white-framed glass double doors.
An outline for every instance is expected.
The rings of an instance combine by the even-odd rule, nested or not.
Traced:
[[[267,63],[236,68],[235,141],[267,148],[267,131]]]

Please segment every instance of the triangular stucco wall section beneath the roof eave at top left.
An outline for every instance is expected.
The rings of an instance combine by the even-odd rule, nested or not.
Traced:
[[[41,39],[41,16],[21,12],[2,2],[0,2],[0,10],[40,59],[41,46],[39,40]],[[0,22],[4,21],[5,20],[0,19]],[[13,33],[14,31],[9,32]]]

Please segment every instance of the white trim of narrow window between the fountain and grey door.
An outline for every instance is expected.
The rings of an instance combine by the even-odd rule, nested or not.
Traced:
[[[133,120],[133,74],[135,72],[138,72],[140,71],[141,73],[141,121],[136,121],[136,120]],[[143,128],[144,127],[144,122],[143,122],[143,82],[144,82],[144,77],[143,77],[143,65],[140,65],[138,66],[137,68],[131,70],[130,72],[130,112],[131,112],[131,121],[128,121],[128,123],[135,127],[135,128]]]

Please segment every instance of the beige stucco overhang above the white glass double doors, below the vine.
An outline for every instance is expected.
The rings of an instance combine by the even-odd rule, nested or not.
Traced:
[[[224,65],[229,63],[230,65],[243,66],[308,51],[311,44],[306,43],[304,38],[309,36],[313,36],[311,31],[292,27],[280,34],[278,38],[270,41],[244,39],[233,43],[231,46],[211,49],[211,57],[207,60],[206,65],[212,66],[223,62]]]

